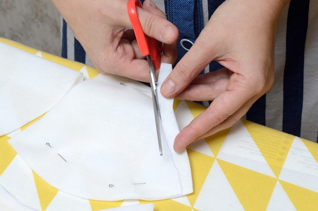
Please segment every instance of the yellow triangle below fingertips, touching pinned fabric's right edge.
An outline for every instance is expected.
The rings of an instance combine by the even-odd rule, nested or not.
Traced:
[[[187,198],[190,204],[194,206],[215,158],[189,149],[187,149],[187,153],[192,171],[192,179],[196,181],[193,193],[187,195]]]

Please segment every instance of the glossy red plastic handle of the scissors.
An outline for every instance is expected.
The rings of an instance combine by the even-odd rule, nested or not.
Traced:
[[[142,4],[139,0],[129,0],[127,3],[127,10],[135,32],[141,55],[150,55],[153,67],[155,69],[158,69],[160,67],[161,48],[158,46],[158,43],[155,39],[145,35],[137,14],[136,5],[142,8]]]

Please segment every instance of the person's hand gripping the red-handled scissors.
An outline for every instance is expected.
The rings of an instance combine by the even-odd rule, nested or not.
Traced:
[[[149,82],[149,66],[141,56],[127,11],[127,0],[51,0],[102,73]],[[174,63],[178,29],[150,0],[137,13],[144,33],[162,43],[162,62]]]

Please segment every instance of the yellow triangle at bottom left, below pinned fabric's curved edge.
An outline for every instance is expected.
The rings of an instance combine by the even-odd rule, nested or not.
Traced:
[[[57,194],[58,190],[47,184],[34,171],[32,172],[37,187],[42,210],[45,210]]]

